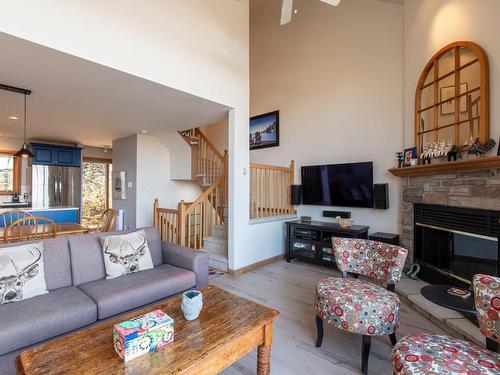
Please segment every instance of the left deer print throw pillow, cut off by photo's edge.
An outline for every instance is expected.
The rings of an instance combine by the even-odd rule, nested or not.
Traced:
[[[41,242],[0,248],[0,304],[46,293]]]

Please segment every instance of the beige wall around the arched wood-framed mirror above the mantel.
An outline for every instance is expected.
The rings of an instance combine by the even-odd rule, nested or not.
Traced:
[[[414,145],[415,90],[424,66],[445,45],[472,41],[486,51],[490,65],[490,137],[500,137],[500,1],[406,1],[405,35],[405,144]],[[495,149],[496,150],[496,149]]]

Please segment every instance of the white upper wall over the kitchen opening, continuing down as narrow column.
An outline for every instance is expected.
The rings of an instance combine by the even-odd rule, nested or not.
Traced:
[[[0,31],[233,108],[231,268],[244,266],[239,255],[253,251],[248,237],[248,176],[242,173],[249,160],[248,14],[248,0],[0,3]]]

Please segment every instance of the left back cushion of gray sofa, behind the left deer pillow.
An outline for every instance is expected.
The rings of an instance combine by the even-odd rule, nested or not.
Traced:
[[[34,242],[37,241],[24,242],[24,244]],[[47,284],[47,289],[52,290],[70,286],[72,278],[68,239],[65,237],[51,238],[42,242],[45,283]],[[13,246],[13,244],[2,244],[0,248],[10,246]]]

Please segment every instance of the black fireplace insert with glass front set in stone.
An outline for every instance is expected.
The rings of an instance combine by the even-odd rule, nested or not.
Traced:
[[[413,211],[421,279],[469,287],[477,273],[500,274],[500,211],[420,203]]]

